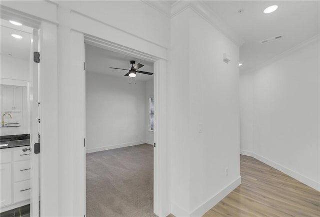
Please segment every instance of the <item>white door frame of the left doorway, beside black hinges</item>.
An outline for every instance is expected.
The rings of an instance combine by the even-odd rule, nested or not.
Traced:
[[[58,216],[58,166],[55,163],[58,159],[57,152],[57,51],[56,51],[56,33],[57,23],[44,20],[39,17],[20,11],[11,9],[9,7],[0,6],[0,18],[5,20],[15,20],[22,25],[40,30],[38,35],[38,50],[40,52],[39,71],[39,92],[38,99],[41,105],[41,113],[39,119],[41,121],[41,148],[39,159],[40,166],[40,183],[39,191],[41,196],[40,213],[42,216]],[[33,152],[34,150],[31,150]],[[36,162],[33,161],[33,163]],[[32,161],[31,161],[32,164]],[[32,165],[31,165],[32,166]],[[31,174],[31,179],[39,178]],[[31,180],[32,181],[32,180]],[[32,190],[31,190],[32,193]],[[31,206],[30,206],[31,209]],[[30,210],[31,211],[31,210]],[[32,213],[34,216],[38,212]]]

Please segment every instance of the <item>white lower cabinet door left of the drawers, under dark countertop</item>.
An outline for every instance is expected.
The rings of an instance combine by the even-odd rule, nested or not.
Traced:
[[[11,163],[0,164],[0,172],[1,172],[1,195],[0,195],[1,203],[0,205],[2,207],[12,203]]]

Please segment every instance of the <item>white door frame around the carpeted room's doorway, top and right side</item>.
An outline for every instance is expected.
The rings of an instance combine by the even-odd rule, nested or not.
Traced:
[[[154,98],[154,151],[153,151],[153,212],[166,216],[169,211],[168,199],[168,151],[166,130],[166,73],[167,61],[110,41],[83,34],[85,44],[153,62]],[[85,74],[84,74],[85,76]],[[85,78],[84,78],[85,80]],[[82,92],[82,91],[79,91]],[[84,86],[85,99],[85,86]],[[85,102],[85,100],[84,100]],[[84,103],[85,106],[85,103]],[[84,111],[85,115],[85,111]],[[85,119],[84,119],[85,122]],[[85,126],[85,123],[84,123]],[[84,130],[85,131],[85,130]],[[85,135],[84,135],[85,136]],[[84,150],[85,151],[85,150]],[[84,158],[85,161],[85,158]],[[85,163],[84,163],[85,164]],[[84,177],[85,179],[85,173]]]

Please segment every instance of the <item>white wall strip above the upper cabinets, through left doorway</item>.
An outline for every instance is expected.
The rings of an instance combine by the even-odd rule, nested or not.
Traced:
[[[1,55],[1,78],[29,81],[29,61]]]

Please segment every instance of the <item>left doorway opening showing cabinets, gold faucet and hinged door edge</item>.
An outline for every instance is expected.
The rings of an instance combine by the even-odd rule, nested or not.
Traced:
[[[39,30],[24,23],[1,17],[1,216],[39,216]]]

